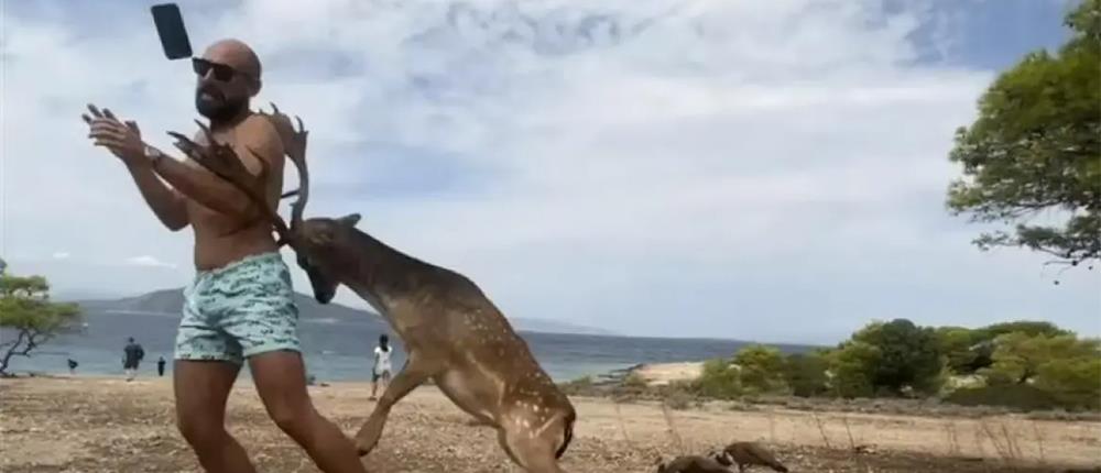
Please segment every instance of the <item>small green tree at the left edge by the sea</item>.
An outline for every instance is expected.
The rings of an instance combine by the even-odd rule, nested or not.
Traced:
[[[77,330],[79,321],[75,304],[50,300],[50,284],[44,277],[0,275],[0,328],[11,337],[0,342],[0,375],[10,375],[12,356],[31,356],[50,339]]]

